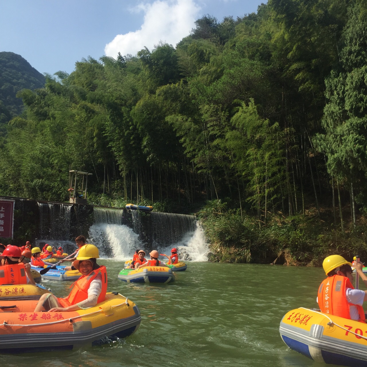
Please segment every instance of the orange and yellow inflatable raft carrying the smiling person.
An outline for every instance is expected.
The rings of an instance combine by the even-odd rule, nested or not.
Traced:
[[[117,292],[105,301],[70,312],[33,312],[37,301],[1,301],[0,351],[6,353],[68,350],[101,338],[124,338],[140,325],[138,307]]]

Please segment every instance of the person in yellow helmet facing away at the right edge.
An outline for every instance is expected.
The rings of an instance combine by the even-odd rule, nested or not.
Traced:
[[[356,321],[365,321],[362,308],[367,299],[367,291],[354,289],[351,263],[340,255],[331,255],[324,259],[323,268],[328,276],[320,285],[317,302],[323,313],[344,317]],[[367,287],[367,277],[364,275],[363,264],[355,264]]]

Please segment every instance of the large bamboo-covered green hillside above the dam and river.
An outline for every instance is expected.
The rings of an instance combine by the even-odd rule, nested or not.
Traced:
[[[345,232],[367,204],[366,26],[366,0],[269,0],[176,47],[76,62],[19,92],[0,190],[65,200],[79,169],[94,203],[201,208],[220,259],[365,251]]]

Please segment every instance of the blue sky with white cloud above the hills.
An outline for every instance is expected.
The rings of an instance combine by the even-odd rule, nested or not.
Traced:
[[[89,55],[116,57],[175,46],[205,14],[219,21],[256,12],[261,0],[0,0],[0,51],[22,55],[39,72],[70,73]]]

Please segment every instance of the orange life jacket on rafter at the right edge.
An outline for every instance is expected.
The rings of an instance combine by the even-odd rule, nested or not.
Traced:
[[[363,307],[349,303],[346,299],[346,289],[354,289],[352,283],[345,276],[333,275],[327,277],[319,287],[318,302],[323,313],[350,319],[350,306],[356,306],[361,322],[366,319]]]

